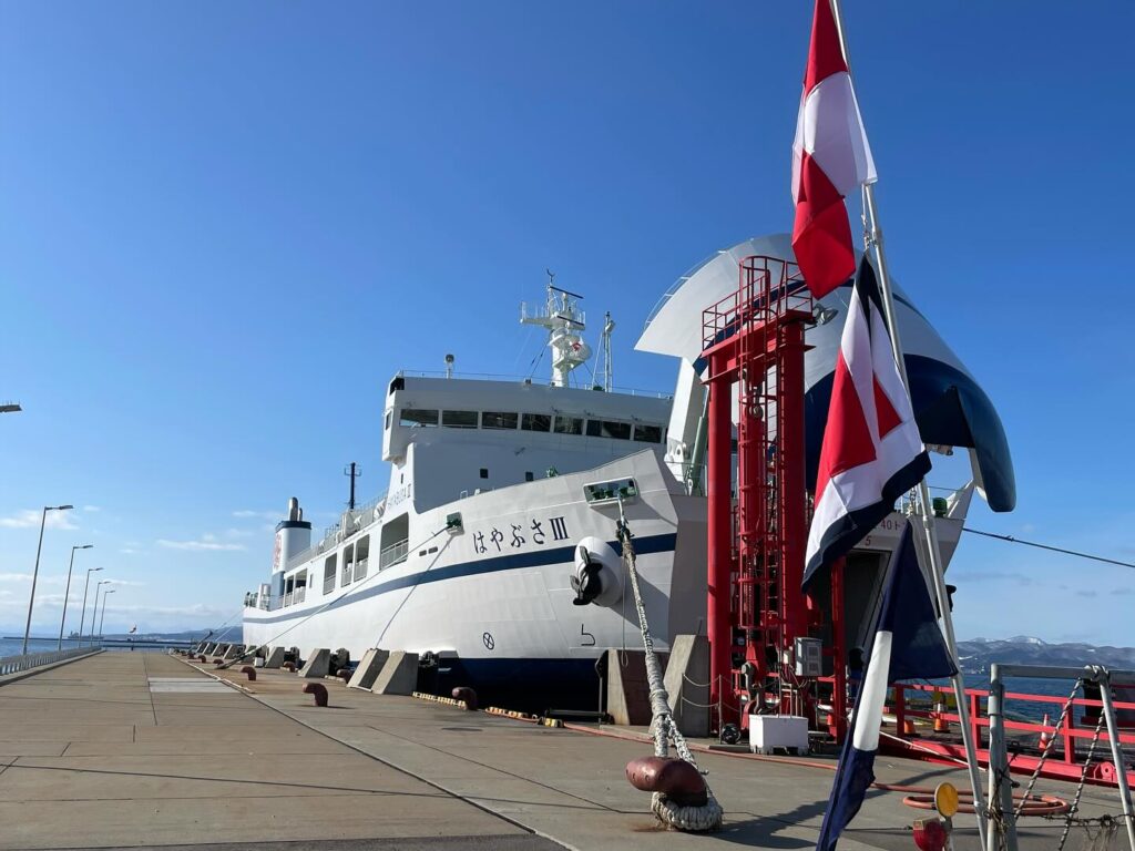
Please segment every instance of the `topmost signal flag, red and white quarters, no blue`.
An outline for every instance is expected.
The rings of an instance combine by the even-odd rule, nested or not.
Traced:
[[[792,143],[792,250],[812,294],[822,298],[855,272],[843,199],[876,178],[859,103],[830,0],[816,0],[808,67]]]

